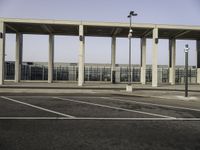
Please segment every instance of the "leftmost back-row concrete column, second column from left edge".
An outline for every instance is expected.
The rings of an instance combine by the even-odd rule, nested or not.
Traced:
[[[16,53],[15,53],[15,82],[18,83],[21,80],[21,68],[22,68],[22,49],[23,49],[23,35],[21,33],[16,34]]]

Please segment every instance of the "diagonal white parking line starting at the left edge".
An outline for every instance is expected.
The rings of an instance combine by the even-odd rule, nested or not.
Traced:
[[[40,107],[40,106],[36,106],[36,105],[29,104],[29,103],[21,102],[21,101],[18,101],[18,100],[9,98],[9,97],[1,96],[1,98],[6,99],[6,100],[10,100],[10,101],[15,102],[15,103],[19,103],[19,104],[23,104],[23,105],[26,105],[26,106],[30,106],[30,107],[33,107],[33,108],[36,108],[36,109],[39,109],[39,110],[43,110],[43,111],[46,111],[46,112],[50,112],[50,113],[53,113],[53,114],[61,115],[61,116],[64,116],[64,117],[75,118],[74,116],[71,116],[71,115],[63,114],[63,113],[60,113],[60,112],[57,112],[57,111],[54,111],[54,110],[50,110],[50,109],[46,109],[46,108],[43,108],[43,107]]]

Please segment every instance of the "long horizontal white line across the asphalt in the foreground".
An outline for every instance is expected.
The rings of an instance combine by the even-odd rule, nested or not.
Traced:
[[[93,118],[93,117],[0,117],[0,120],[119,120],[119,121],[200,121],[200,118]]]

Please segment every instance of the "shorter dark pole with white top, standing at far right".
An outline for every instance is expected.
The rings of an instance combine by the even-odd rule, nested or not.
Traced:
[[[185,97],[188,97],[188,44],[185,45]]]

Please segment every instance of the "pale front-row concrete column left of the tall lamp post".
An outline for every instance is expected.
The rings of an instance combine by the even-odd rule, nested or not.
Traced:
[[[79,67],[78,67],[78,86],[83,86],[84,83],[84,63],[85,63],[85,37],[83,25],[79,25]]]

